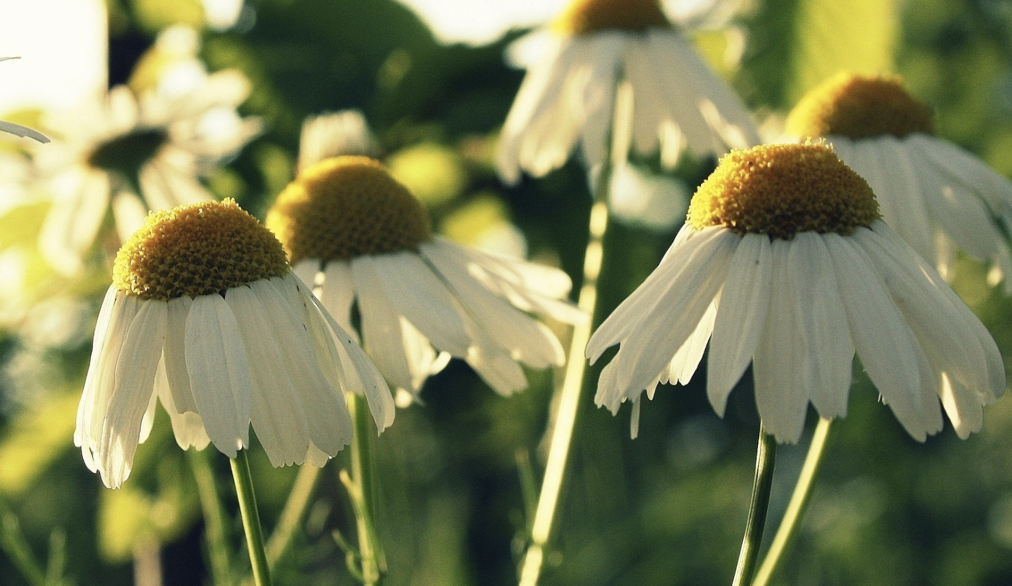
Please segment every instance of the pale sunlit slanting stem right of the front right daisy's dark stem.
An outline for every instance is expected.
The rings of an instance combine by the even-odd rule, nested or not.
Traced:
[[[809,445],[809,453],[805,456],[802,473],[797,477],[797,484],[794,485],[794,492],[790,495],[790,502],[787,503],[787,510],[783,513],[783,519],[780,520],[780,526],[776,529],[776,535],[773,536],[773,542],[766,552],[766,557],[759,565],[752,586],[766,586],[769,583],[776,573],[777,565],[783,559],[783,554],[790,549],[797,537],[798,521],[808,509],[812,487],[819,476],[830,424],[830,419],[820,419],[819,425],[816,426],[812,443]]]

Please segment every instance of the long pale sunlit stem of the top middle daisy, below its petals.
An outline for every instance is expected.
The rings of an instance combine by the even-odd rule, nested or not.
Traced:
[[[604,163],[597,177],[594,205],[590,210],[590,227],[587,252],[583,261],[583,284],[577,305],[587,314],[587,322],[573,329],[566,361],[566,374],[558,396],[555,425],[549,444],[549,459],[544,467],[541,492],[534,510],[534,522],[530,530],[530,546],[524,555],[520,570],[520,586],[534,586],[541,575],[545,550],[553,536],[560,495],[569,469],[570,447],[584,403],[584,388],[587,374],[587,359],[584,351],[590,339],[594,313],[597,308],[597,277],[601,272],[604,257],[604,232],[608,226],[608,185],[611,182],[612,163]]]

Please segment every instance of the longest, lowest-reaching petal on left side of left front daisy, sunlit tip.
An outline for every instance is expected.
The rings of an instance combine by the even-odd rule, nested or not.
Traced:
[[[142,301],[123,337],[98,449],[98,471],[109,488],[122,485],[134,466],[141,422],[155,392],[167,315],[165,302]]]

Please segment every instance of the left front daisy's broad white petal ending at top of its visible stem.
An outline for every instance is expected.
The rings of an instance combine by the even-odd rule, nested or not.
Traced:
[[[199,296],[186,316],[185,358],[197,412],[229,457],[249,445],[249,359],[236,316],[219,295]]]

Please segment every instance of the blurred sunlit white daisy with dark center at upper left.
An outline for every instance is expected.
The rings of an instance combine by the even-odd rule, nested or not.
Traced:
[[[117,86],[104,101],[49,119],[55,142],[38,151],[36,163],[55,201],[39,248],[61,272],[80,270],[110,207],[122,242],[149,210],[214,199],[197,177],[260,130],[259,121],[236,114],[250,90],[238,72],[170,89],[135,95]]]

